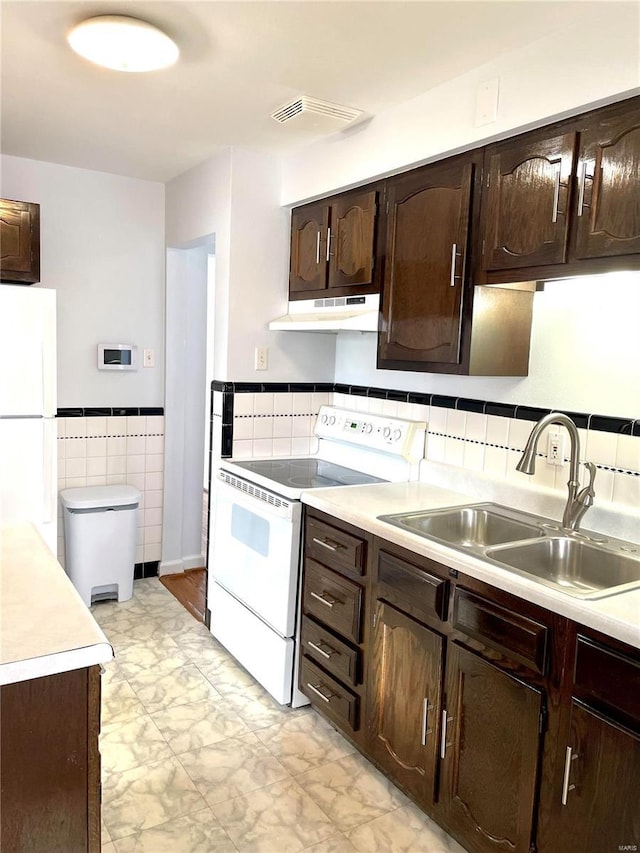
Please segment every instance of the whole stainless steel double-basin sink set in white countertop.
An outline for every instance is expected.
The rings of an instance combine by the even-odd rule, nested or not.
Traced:
[[[640,545],[492,503],[381,515],[381,521],[465,551],[576,598],[640,587]]]

